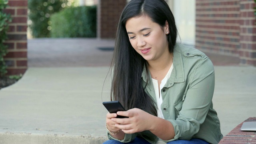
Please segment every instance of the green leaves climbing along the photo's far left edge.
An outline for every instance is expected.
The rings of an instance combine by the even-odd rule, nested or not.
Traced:
[[[9,23],[12,22],[10,14],[3,12],[6,8],[8,0],[0,0],[0,77],[7,73],[7,66],[4,62],[4,56],[7,54],[7,46],[4,45],[7,37],[7,31],[9,29]]]

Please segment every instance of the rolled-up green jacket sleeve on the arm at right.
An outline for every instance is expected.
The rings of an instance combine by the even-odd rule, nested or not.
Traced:
[[[168,140],[190,140],[199,131],[212,104],[214,93],[214,67],[208,57],[198,62],[188,76],[188,89],[181,101],[182,109],[176,120],[168,120],[174,126],[175,136]]]

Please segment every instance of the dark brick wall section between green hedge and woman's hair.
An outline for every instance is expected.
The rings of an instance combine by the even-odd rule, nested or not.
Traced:
[[[120,14],[126,0],[99,0],[100,38],[115,38]]]

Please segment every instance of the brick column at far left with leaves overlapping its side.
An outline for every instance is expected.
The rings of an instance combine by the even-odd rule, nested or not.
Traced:
[[[4,10],[11,14],[12,23],[8,31],[8,54],[4,57],[7,75],[24,74],[27,69],[27,0],[9,0]]]

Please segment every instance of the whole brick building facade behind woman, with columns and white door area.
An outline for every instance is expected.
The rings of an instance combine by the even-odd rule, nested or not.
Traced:
[[[98,5],[97,36],[113,39],[122,9],[129,0],[81,0]],[[256,66],[256,20],[254,0],[166,0],[176,18],[180,38],[202,51],[240,58]],[[5,12],[13,20],[8,32],[9,53],[4,57],[8,75],[27,69],[27,0],[9,0]],[[194,17],[193,17],[194,16]]]

